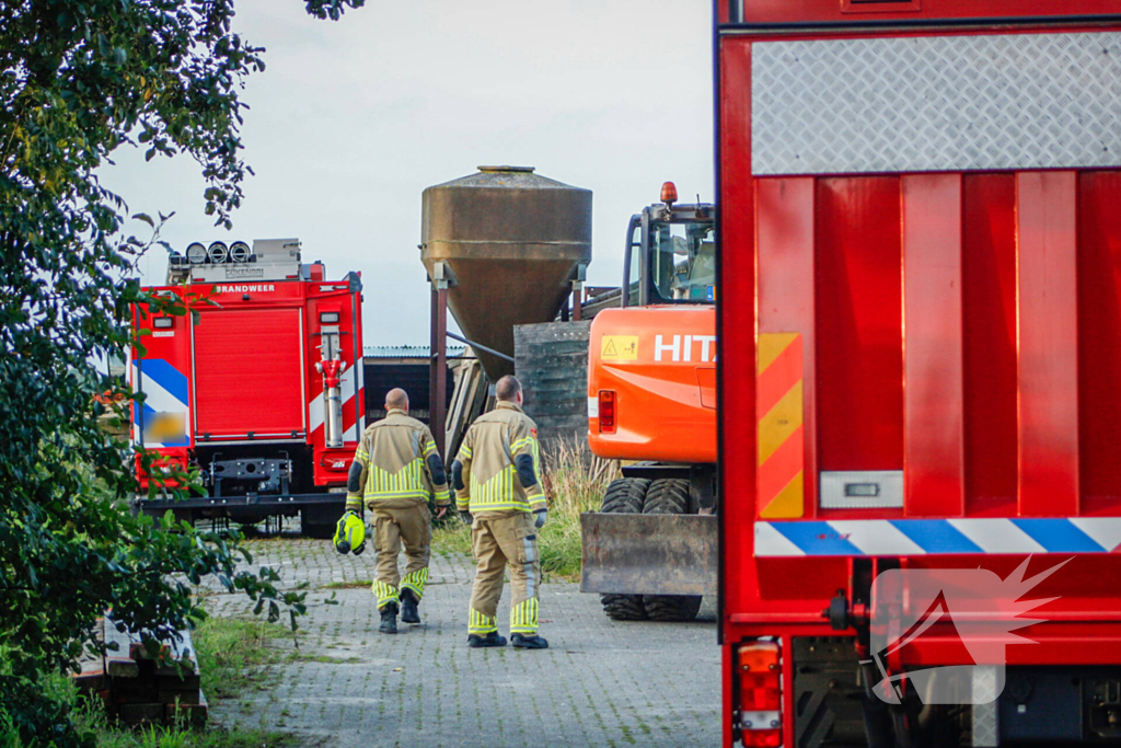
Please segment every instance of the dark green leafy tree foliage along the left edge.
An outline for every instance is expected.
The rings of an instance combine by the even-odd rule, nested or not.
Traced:
[[[44,745],[82,741],[40,684],[106,608],[158,636],[197,619],[191,585],[217,575],[274,618],[302,610],[275,574],[237,571],[235,542],[129,514],[127,446],[93,397],[117,387],[92,362],[130,344],[130,306],[161,303],[133,277],[157,221],[135,214],[154,231],[126,236],[96,169],[121,146],[186,153],[219,225],[241,202],[239,92],[265,63],[233,4],[0,0],[0,710]],[[305,4],[337,19],[363,0]]]

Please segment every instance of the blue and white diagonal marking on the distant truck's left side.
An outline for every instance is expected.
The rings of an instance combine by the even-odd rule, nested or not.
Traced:
[[[191,409],[187,407],[186,375],[164,359],[133,359],[132,381],[139,382],[145,394],[142,406],[132,404],[133,441],[141,441],[142,423],[145,446],[188,446]]]

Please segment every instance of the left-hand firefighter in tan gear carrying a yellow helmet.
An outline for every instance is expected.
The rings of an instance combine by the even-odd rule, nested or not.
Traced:
[[[354,453],[346,482],[346,509],[370,509],[378,572],[373,594],[381,612],[382,634],[397,634],[397,610],[401,620],[419,624],[417,604],[428,581],[432,544],[432,514],[428,499],[436,500],[443,517],[452,504],[444,463],[428,427],[410,418],[409,396],[404,389],[386,395],[383,419],[368,427]],[[397,555],[405,543],[405,576]]]

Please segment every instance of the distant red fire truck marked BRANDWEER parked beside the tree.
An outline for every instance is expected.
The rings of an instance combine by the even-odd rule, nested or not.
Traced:
[[[173,255],[167,285],[148,290],[191,314],[133,310],[132,440],[158,455],[151,470],[196,467],[205,496],[149,498],[138,459],[139,508],[239,523],[298,511],[305,534],[330,535],[364,422],[359,275],[327,280],[295,239],[216,241]]]

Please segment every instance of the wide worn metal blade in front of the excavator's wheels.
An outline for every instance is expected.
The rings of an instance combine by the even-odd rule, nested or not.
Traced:
[[[581,515],[581,592],[715,594],[716,521],[713,515]]]

